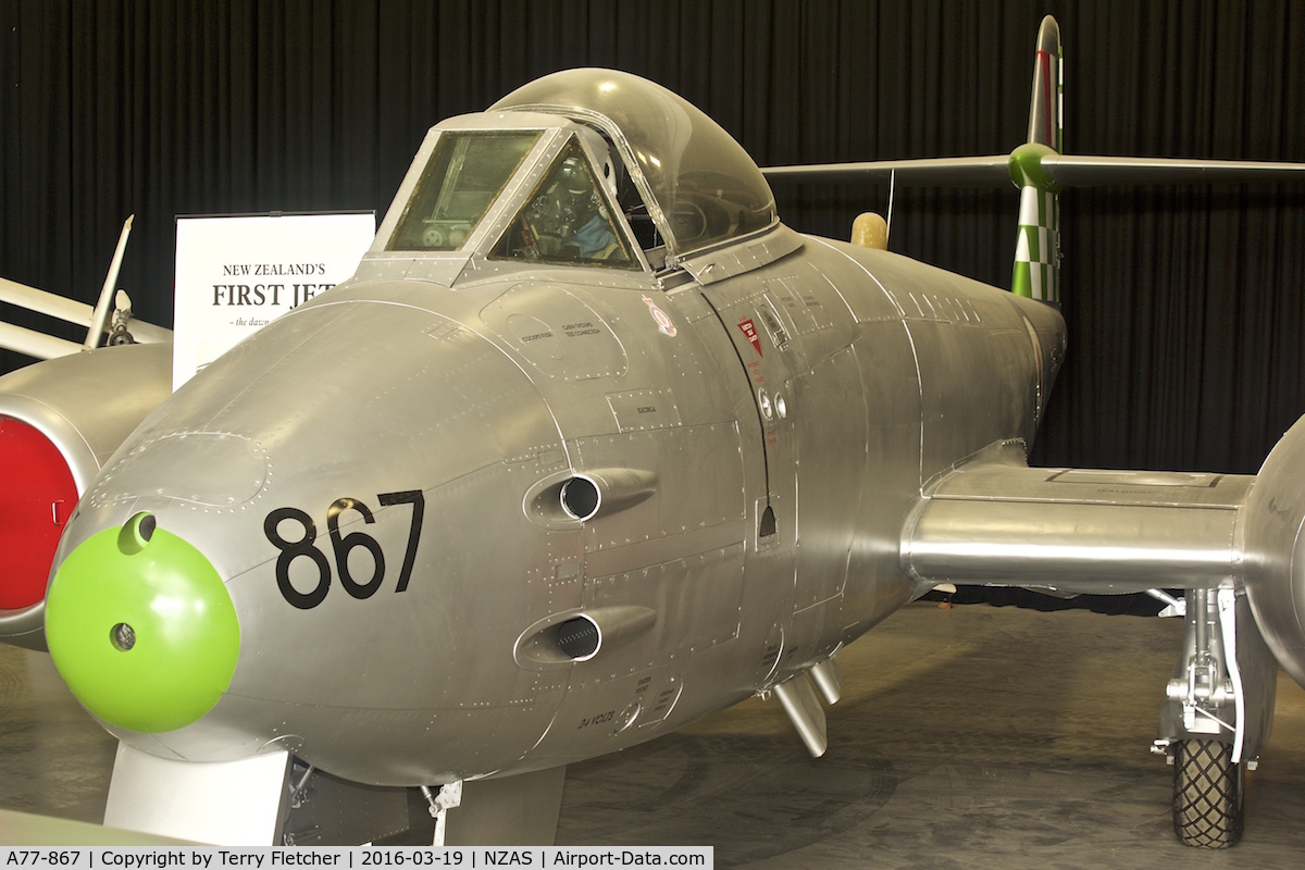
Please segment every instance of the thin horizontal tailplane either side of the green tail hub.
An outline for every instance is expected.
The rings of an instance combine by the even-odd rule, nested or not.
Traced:
[[[767,181],[867,184],[890,181],[915,187],[1004,188],[1013,181],[1014,154],[940,157],[864,163],[812,163],[762,170]],[[1181,158],[1100,157],[1043,153],[1037,164],[1058,188],[1112,184],[1208,184],[1211,181],[1305,181],[1305,163],[1195,160]]]

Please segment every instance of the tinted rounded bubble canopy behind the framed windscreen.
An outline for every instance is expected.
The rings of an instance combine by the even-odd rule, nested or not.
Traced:
[[[603,133],[681,256],[776,223],[775,197],[719,124],[660,85],[611,69],[568,69],[518,87],[491,111],[561,115]]]

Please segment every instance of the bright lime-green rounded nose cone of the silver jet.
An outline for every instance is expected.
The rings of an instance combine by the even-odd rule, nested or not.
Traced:
[[[142,513],[64,560],[46,600],[46,643],[89,711],[158,733],[218,703],[236,669],[240,623],[209,560]]]

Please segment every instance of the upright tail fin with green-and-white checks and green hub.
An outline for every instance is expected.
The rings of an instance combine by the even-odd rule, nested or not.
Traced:
[[[1010,177],[1019,185],[1019,235],[1010,291],[1053,305],[1060,304],[1060,197],[1041,159],[1064,147],[1061,72],[1060,27],[1047,16],[1037,29],[1034,55],[1028,142],[1010,155]]]

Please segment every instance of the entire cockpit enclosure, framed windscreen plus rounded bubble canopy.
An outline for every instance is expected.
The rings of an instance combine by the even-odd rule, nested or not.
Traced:
[[[577,69],[433,128],[373,250],[660,269],[776,222],[711,119],[637,76]]]

